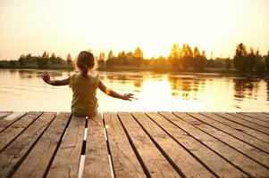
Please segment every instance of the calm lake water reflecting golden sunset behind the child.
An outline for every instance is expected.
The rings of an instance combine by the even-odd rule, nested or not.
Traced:
[[[61,79],[74,72],[49,70]],[[0,110],[70,111],[71,88],[46,85],[42,70],[0,69]],[[269,111],[269,81],[218,75],[169,75],[152,72],[99,72],[122,101],[97,92],[100,111]]]

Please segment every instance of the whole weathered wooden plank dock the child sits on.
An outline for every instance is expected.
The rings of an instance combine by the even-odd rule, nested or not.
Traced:
[[[269,177],[269,113],[2,111],[0,177]]]

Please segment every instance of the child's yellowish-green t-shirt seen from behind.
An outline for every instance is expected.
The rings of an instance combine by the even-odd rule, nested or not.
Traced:
[[[97,112],[97,88],[99,77],[74,74],[69,79],[72,90],[71,112],[76,114],[94,115]]]

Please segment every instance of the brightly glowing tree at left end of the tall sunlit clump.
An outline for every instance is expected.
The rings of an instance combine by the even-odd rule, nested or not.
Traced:
[[[179,44],[172,44],[171,52],[168,57],[172,65],[172,69],[180,69],[180,60],[181,60],[181,48]]]

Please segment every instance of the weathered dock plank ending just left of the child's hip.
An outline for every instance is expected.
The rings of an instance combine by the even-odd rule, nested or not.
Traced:
[[[36,178],[45,176],[46,169],[49,168],[50,161],[59,142],[61,142],[64,128],[67,127],[70,117],[71,113],[67,112],[61,112],[55,117],[35,147],[29,152],[27,158],[23,160],[21,166],[13,174],[13,177]]]

